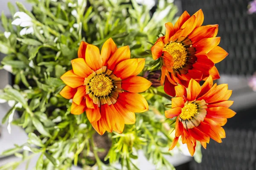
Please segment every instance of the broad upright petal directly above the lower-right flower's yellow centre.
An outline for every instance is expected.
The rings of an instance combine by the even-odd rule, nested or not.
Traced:
[[[188,94],[187,99],[188,101],[193,101],[196,99],[198,94],[200,94],[201,86],[198,82],[196,82],[194,79],[191,79],[189,81],[189,88],[188,88]]]

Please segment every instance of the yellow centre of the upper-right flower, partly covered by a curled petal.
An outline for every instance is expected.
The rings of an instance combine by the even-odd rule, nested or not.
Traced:
[[[174,59],[174,64],[172,66],[172,69],[177,70],[182,68],[187,61],[187,52],[186,48],[183,46],[180,42],[171,42],[170,44],[167,44],[163,51],[167,51],[169,54],[172,55]]]

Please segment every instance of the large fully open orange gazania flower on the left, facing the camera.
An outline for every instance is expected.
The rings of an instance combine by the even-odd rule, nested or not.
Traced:
[[[151,86],[137,76],[145,59],[130,59],[130,48],[117,48],[111,38],[102,46],[101,54],[95,45],[81,42],[78,57],[71,61],[73,70],[61,76],[67,85],[61,96],[73,99],[71,113],[85,111],[100,135],[106,130],[122,133],[125,124],[135,123],[134,112],[148,110],[147,101],[138,94]]]

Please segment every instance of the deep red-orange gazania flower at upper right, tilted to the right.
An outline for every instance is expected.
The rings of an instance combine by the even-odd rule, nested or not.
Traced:
[[[161,59],[163,66],[161,84],[165,92],[175,96],[177,84],[187,88],[190,79],[197,82],[207,79],[219,79],[214,66],[223,60],[228,53],[217,46],[220,37],[218,25],[201,26],[204,14],[200,9],[192,17],[185,11],[175,25],[166,23],[166,35],[158,38],[152,46],[153,59]]]

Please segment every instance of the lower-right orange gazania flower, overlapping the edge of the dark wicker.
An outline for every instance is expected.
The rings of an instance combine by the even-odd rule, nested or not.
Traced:
[[[181,85],[175,86],[175,90],[177,97],[172,98],[172,109],[165,112],[167,118],[177,116],[175,139],[169,150],[176,146],[180,136],[191,156],[195,153],[196,141],[205,149],[210,138],[221,143],[221,138],[225,138],[221,126],[236,114],[229,109],[233,101],[228,100],[232,91],[227,89],[227,84],[213,85],[209,76],[202,87],[191,79],[187,90]]]

